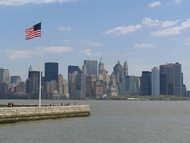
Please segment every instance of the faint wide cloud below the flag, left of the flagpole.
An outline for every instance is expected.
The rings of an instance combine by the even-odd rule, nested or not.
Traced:
[[[26,58],[30,58],[36,55],[36,53],[39,53],[39,52],[36,52],[36,49],[32,49],[32,50],[9,49],[9,50],[4,50],[2,52],[7,54],[8,58],[11,60],[26,59]]]

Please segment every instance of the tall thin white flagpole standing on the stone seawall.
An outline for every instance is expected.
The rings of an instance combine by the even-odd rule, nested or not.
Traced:
[[[41,26],[42,26],[42,21]],[[42,28],[41,28],[41,36],[40,36],[40,82],[39,82],[39,107],[41,107],[41,87],[42,84]]]

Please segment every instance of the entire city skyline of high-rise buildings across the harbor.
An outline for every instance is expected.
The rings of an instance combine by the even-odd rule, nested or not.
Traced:
[[[28,79],[22,82],[20,76],[11,76],[6,68],[0,69],[0,96],[38,98],[39,71],[30,66]],[[169,63],[142,71],[141,77],[128,74],[128,63],[117,64],[111,75],[104,68],[102,59],[84,60],[82,70],[79,66],[68,66],[68,82],[58,75],[58,63],[45,63],[42,77],[42,98],[47,99],[86,99],[125,95],[175,95],[188,96],[183,83],[182,65]],[[12,84],[10,84],[10,81]]]

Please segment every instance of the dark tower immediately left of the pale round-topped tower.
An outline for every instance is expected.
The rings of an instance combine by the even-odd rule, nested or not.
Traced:
[[[143,71],[141,76],[141,94],[151,95],[151,72]]]

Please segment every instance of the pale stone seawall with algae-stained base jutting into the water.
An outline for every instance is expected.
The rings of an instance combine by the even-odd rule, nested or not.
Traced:
[[[0,108],[0,124],[89,115],[89,105]]]

